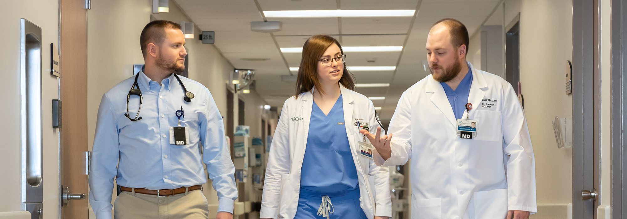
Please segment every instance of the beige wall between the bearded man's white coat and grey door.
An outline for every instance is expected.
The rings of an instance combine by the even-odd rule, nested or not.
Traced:
[[[572,3],[505,0],[504,6],[505,24],[520,12],[520,82],[534,145],[539,205],[534,218],[565,218],[572,199],[572,150],[557,148],[551,121],[572,114],[563,76],[564,63],[572,57]],[[556,211],[554,205],[560,210],[549,215]]]

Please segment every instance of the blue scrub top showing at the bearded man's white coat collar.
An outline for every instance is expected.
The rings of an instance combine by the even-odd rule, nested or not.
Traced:
[[[464,115],[464,111],[466,111],[466,103],[468,103],[468,94],[470,94],[470,85],[472,84],[472,71],[470,71],[470,66],[468,66],[468,73],[461,79],[457,89],[451,89],[445,82],[440,82],[440,84],[442,84],[442,88],[444,88],[448,103],[450,103],[451,108],[453,108],[455,118],[458,120],[461,119],[461,116]]]

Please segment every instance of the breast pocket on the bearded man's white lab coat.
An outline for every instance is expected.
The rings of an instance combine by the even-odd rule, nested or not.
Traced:
[[[475,111],[475,120],[477,120],[477,140],[503,140],[500,111],[477,110]]]

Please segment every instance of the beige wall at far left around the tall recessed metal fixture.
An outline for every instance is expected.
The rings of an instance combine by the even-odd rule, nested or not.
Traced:
[[[58,98],[56,78],[51,78],[50,43],[58,46],[58,1],[24,0],[3,1],[3,33],[0,34],[0,102],[3,103],[4,120],[0,127],[3,151],[0,153],[0,188],[4,188],[0,198],[0,211],[19,211],[21,208],[20,181],[20,68],[19,42],[20,19],[25,18],[42,29],[42,83],[43,83],[43,128],[45,146],[43,147],[43,214],[44,218],[58,218],[59,214],[59,148],[58,138],[51,133],[51,99]],[[55,93],[56,92],[56,93]]]

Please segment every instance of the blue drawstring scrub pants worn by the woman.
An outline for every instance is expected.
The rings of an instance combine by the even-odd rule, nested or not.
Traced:
[[[298,196],[298,208],[296,210],[295,219],[326,219],[326,217],[318,216],[318,209],[322,203],[322,196],[329,196],[333,205],[333,213],[329,218],[342,219],[367,219],[364,210],[359,206],[359,187],[355,190],[344,190],[339,192],[319,192],[300,188],[300,196]]]

